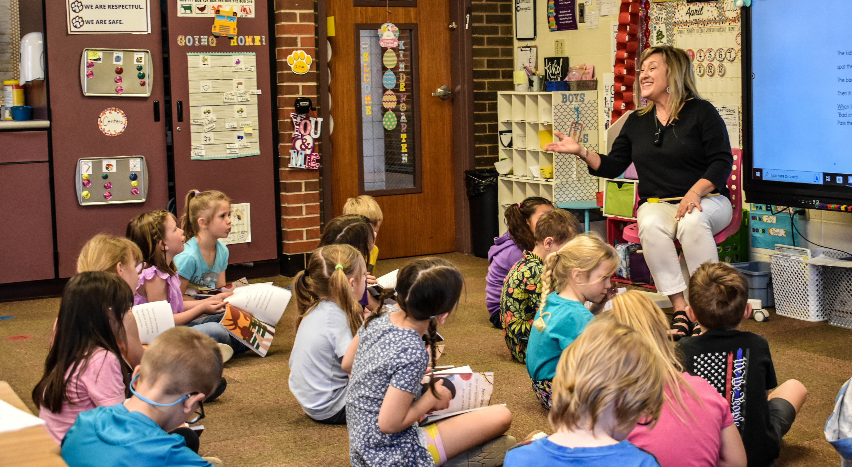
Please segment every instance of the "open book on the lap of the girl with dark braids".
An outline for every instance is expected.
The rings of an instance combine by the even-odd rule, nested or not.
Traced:
[[[458,368],[440,370],[432,374],[432,378],[435,378],[436,383],[441,379],[443,380],[444,387],[450,389],[452,401],[450,401],[450,406],[446,407],[446,409],[432,412],[423,419],[420,422],[421,426],[491,404],[491,395],[494,391],[493,372],[474,372],[470,369],[470,366],[460,366]],[[429,389],[423,386],[423,393],[427,390]]]

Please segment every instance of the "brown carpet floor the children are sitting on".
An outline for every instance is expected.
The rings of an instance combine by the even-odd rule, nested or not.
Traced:
[[[446,339],[440,363],[470,365],[475,371],[495,373],[492,403],[505,402],[512,411],[509,435],[522,438],[532,430],[550,432],[547,412],[533,395],[525,366],[511,359],[503,332],[486,319],[487,261],[458,253],[439,256],[455,263],[465,278],[458,311],[440,328]],[[377,275],[400,268],[411,259],[380,261]],[[283,276],[252,282],[269,280],[280,286],[291,282]],[[36,407],[30,394],[43,372],[59,303],[59,298],[0,303],[0,315],[14,316],[0,320],[0,379],[8,381],[33,412]],[[292,300],[276,327],[277,336],[266,357],[247,352],[234,355],[226,364],[227,391],[204,406],[207,417],[201,436],[202,455],[222,458],[228,467],[348,465],[346,427],[315,423],[302,412],[288,389],[295,315]],[[785,436],[775,465],[839,464],[838,454],[825,441],[823,427],[838,389],[852,377],[852,346],[847,340],[852,331],[774,312],[768,322],[750,320],[742,329],[769,340],[779,382],[796,378],[809,389],[808,401]],[[15,336],[28,338],[9,339]]]

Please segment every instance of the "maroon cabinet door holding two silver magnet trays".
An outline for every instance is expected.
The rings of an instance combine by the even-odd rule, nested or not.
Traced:
[[[150,34],[68,34],[66,3],[59,0],[45,3],[47,32],[44,41],[60,277],[75,274],[80,248],[96,233],[124,235],[130,219],[148,210],[165,209],[168,204],[161,66],[163,38],[158,3],[152,2],[151,6]],[[80,57],[87,48],[150,50],[153,76],[146,79],[153,80],[152,95],[84,96],[79,70]],[[160,105],[158,122],[154,121],[154,101],[159,101]],[[121,135],[107,136],[98,129],[98,116],[109,107],[118,107],[127,115],[127,129]],[[74,179],[78,159],[124,155],[145,156],[149,180],[147,200],[128,205],[79,205]]]

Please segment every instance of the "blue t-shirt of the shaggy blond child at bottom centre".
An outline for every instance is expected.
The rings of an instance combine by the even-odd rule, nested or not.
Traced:
[[[542,438],[506,453],[505,467],[659,467],[653,455],[621,441],[599,447],[564,447]]]

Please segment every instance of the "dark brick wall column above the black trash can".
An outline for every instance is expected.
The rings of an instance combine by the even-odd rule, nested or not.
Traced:
[[[477,168],[498,160],[497,91],[515,89],[511,0],[473,0],[474,132]]]

